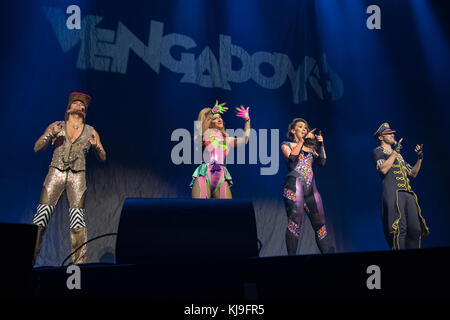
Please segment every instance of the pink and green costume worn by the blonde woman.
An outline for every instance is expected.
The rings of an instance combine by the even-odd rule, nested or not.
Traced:
[[[225,158],[230,152],[230,143],[234,138],[224,137],[220,132],[214,132],[207,141],[203,141],[203,148],[209,152],[208,163],[202,163],[192,174],[190,187],[192,188],[198,179],[201,189],[200,198],[207,198],[207,190],[210,194],[220,190],[220,198],[226,198],[226,188],[221,188],[224,183],[233,184],[231,175],[225,166]]]

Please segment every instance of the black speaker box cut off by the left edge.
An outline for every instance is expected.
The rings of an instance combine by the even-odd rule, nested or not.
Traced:
[[[0,223],[0,296],[26,297],[30,288],[37,227]]]

